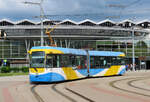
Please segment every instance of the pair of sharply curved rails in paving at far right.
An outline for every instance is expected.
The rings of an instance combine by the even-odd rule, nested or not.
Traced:
[[[149,79],[150,77],[138,77],[138,78],[126,78],[126,79],[120,79],[120,80],[115,80],[109,83],[109,85],[117,90],[121,90],[124,92],[128,92],[128,93],[132,93],[132,94],[137,94],[137,95],[141,95],[141,96],[146,96],[146,97],[150,97],[150,94],[144,94],[144,93],[140,93],[140,92],[136,92],[136,91],[132,91],[132,90],[127,90],[124,88],[120,88],[117,85],[115,85],[116,83],[119,83],[121,81],[126,81],[126,80],[131,80],[127,82],[127,85],[132,87],[132,88],[136,88],[136,89],[140,89],[140,90],[144,90],[144,91],[149,91],[149,89],[145,89],[145,88],[141,88],[141,87],[137,87],[135,85],[133,85],[132,83],[135,81],[140,81],[140,80],[145,80],[145,79]]]

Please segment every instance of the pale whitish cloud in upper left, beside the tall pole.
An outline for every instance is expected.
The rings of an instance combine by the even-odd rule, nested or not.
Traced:
[[[23,4],[24,0],[0,0],[0,17],[17,17],[39,14],[39,8]]]

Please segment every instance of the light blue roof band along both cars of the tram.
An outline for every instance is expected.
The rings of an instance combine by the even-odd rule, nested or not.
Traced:
[[[32,49],[45,49],[45,50],[59,50],[64,54],[76,54],[76,55],[87,55],[86,50],[83,49],[72,49],[72,48],[61,48],[61,47],[51,47],[51,46],[37,46],[32,47]],[[32,50],[31,49],[31,50]],[[89,51],[90,56],[125,56],[123,52],[112,52],[112,51]]]

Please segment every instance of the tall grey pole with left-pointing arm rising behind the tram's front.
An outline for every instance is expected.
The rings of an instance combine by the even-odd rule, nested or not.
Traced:
[[[42,7],[43,0],[41,2],[24,2],[24,4],[31,4],[31,5],[38,5],[40,7],[40,20],[41,20],[41,46],[44,45],[44,38],[43,38],[43,18],[44,18],[44,11]]]

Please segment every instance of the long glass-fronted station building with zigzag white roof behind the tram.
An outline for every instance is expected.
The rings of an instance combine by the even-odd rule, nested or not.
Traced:
[[[122,51],[127,58],[132,58],[132,45],[135,47],[136,64],[139,68],[150,69],[150,21],[133,22],[123,20],[114,22],[109,19],[94,22],[86,19],[80,22],[72,20],[51,21],[44,20],[44,29],[57,27],[51,36],[59,47],[90,49],[102,51]],[[32,46],[40,46],[41,23],[28,19],[13,22],[0,20],[0,30],[5,31],[7,37],[0,39],[0,60],[7,60],[12,67],[28,65],[28,50]],[[50,25],[50,26],[49,26]],[[134,39],[134,44],[132,44]],[[44,45],[50,41],[44,34]],[[144,66],[144,67],[143,67]]]

